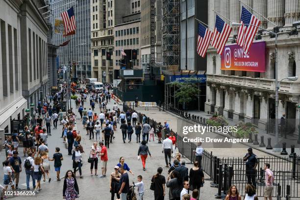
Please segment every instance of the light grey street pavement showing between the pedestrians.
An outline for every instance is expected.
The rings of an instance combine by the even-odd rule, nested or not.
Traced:
[[[142,170],[142,162],[141,160],[137,159],[137,152],[139,149],[139,144],[136,144],[134,141],[136,140],[135,134],[132,134],[132,143],[123,143],[122,140],[122,132],[120,130],[120,124],[118,124],[117,131],[115,131],[116,138],[113,140],[113,143],[110,144],[110,148],[108,149],[108,163],[107,163],[107,176],[104,178],[99,178],[98,176],[91,176],[90,175],[90,164],[87,162],[88,156],[89,156],[89,150],[90,147],[93,144],[93,140],[89,140],[89,137],[86,135],[86,130],[83,129],[83,126],[79,120],[80,115],[77,112],[77,109],[75,108],[75,101],[72,100],[72,106],[74,107],[76,117],[76,123],[77,123],[77,130],[80,131],[80,134],[82,136],[81,144],[83,145],[83,148],[85,150],[85,153],[82,154],[83,157],[83,167],[82,167],[82,175],[84,176],[83,179],[77,178],[78,186],[79,186],[79,199],[83,200],[108,200],[111,198],[111,194],[109,192],[109,175],[111,172],[114,171],[114,166],[119,163],[119,158],[121,156],[125,157],[125,163],[128,164],[129,168],[133,171],[134,175],[129,174],[129,181],[132,183],[132,181],[137,181],[137,176],[142,175],[143,176],[143,182],[145,184],[145,195],[144,200],[153,200],[153,191],[151,191],[150,188],[150,180],[153,175],[156,174],[156,170],[158,167],[163,168],[163,173],[167,179],[167,171],[169,168],[164,167],[165,161],[164,161],[164,154],[161,152],[162,146],[161,144],[157,144],[157,138],[155,138],[154,142],[149,142],[148,146],[152,155],[152,158],[148,156],[147,162],[146,162],[146,171]],[[111,100],[111,102],[108,102],[108,108],[112,109],[113,103],[115,101]],[[89,102],[85,102],[85,107],[88,110],[90,108]],[[119,106],[120,107],[120,106]],[[122,106],[120,107],[122,109]],[[100,113],[98,104],[96,105],[95,112]],[[167,115],[164,115],[167,117]],[[49,136],[48,143],[49,143],[49,149],[50,153],[49,155],[53,155],[55,151],[55,147],[59,147],[61,149],[61,153],[63,154],[64,160],[62,161],[62,168],[61,168],[61,177],[63,177],[67,170],[72,170],[72,156],[68,155],[68,151],[65,148],[65,145],[62,141],[61,136],[61,129],[62,125],[57,125],[57,129],[53,130],[53,127],[51,129],[52,136]],[[19,150],[22,152],[22,148]],[[0,152],[1,160],[5,159],[5,153],[4,150]],[[4,156],[3,156],[4,154]],[[24,160],[23,153],[20,153],[22,162]],[[185,160],[185,158],[183,158]],[[186,162],[190,162],[189,160],[186,160]],[[42,190],[39,194],[36,194],[34,197],[32,196],[19,196],[19,197],[8,197],[8,199],[20,199],[20,200],[27,200],[27,199],[43,199],[43,200],[57,200],[62,199],[62,190],[63,190],[63,179],[58,182],[56,181],[56,174],[54,171],[54,163],[50,161],[51,165],[51,182],[48,182],[48,178],[46,178],[46,182],[41,181]],[[100,163],[98,163],[98,174],[101,174],[100,171]],[[188,168],[191,168],[191,164],[186,165]],[[77,177],[79,173],[76,173]],[[3,171],[0,171],[0,176],[3,177]],[[205,175],[205,178],[208,178],[207,175]],[[20,175],[20,187],[22,189],[26,188],[25,184],[25,172],[22,172]],[[32,187],[32,183],[30,182],[30,188]],[[136,194],[137,194],[137,188],[136,188]],[[214,194],[217,193],[217,188],[211,188],[209,186],[209,181],[206,181],[204,184],[204,187],[201,188],[200,192],[200,199],[203,200],[212,200],[214,199]],[[169,200],[169,190],[166,190],[166,197],[165,200]],[[115,197],[116,199],[116,197]]]

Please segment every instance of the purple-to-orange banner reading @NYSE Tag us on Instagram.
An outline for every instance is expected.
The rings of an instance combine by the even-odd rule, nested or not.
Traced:
[[[248,53],[238,45],[225,46],[221,55],[221,70],[265,72],[265,42],[252,43]]]

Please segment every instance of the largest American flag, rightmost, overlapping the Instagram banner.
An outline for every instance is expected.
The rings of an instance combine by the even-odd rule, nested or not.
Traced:
[[[240,23],[242,25],[239,27],[237,44],[247,53],[258,29],[256,26],[260,25],[260,21],[243,6]]]

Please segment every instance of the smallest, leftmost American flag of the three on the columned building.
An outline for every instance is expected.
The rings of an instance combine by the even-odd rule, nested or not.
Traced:
[[[208,30],[204,25],[198,25],[198,42],[197,52],[204,58],[208,45],[212,37],[212,32]]]

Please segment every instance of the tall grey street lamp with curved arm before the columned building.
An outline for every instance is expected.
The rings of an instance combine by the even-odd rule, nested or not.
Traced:
[[[240,25],[250,25],[250,24],[241,24],[241,23],[235,23],[232,22],[231,23],[232,26],[236,27],[236,26],[240,26]],[[278,34],[267,30],[265,28],[259,27],[257,25],[252,25],[255,26],[257,28],[260,28],[264,31],[267,31],[273,35],[275,35],[275,148],[274,151],[280,151],[280,147],[279,147],[279,135],[278,135],[278,67],[277,67],[277,61],[278,61],[278,56],[277,56],[277,37]]]

